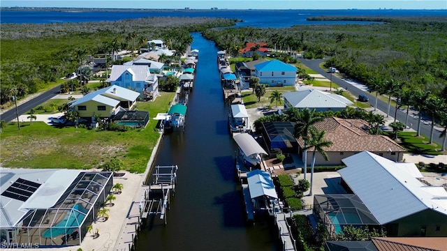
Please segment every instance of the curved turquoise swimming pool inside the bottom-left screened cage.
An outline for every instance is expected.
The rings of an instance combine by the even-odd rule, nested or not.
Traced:
[[[87,212],[88,210],[84,206],[75,204],[71,211],[66,213],[63,220],[43,231],[42,236],[44,238],[52,238],[62,234],[71,234],[76,227],[80,226]]]

